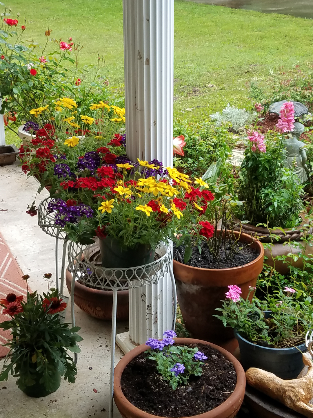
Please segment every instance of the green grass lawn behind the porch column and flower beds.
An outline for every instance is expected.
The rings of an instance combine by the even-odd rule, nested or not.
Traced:
[[[10,0],[11,17],[27,18],[28,40],[43,44],[49,27],[56,39],[84,44],[81,64],[106,58],[103,76],[111,86],[124,82],[121,0]],[[266,82],[282,66],[311,59],[312,20],[220,6],[175,1],[174,114],[207,117],[230,102],[250,107],[251,79]],[[214,87],[210,87],[210,86]]]

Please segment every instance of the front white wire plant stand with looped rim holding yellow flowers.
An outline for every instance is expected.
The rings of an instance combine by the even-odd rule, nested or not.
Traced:
[[[152,263],[129,268],[106,268],[92,263],[85,256],[88,252],[92,252],[92,247],[95,246],[96,244],[92,244],[83,247],[74,242],[70,242],[68,245],[69,270],[72,274],[71,311],[73,313],[75,280],[80,280],[83,284],[90,285],[93,288],[113,291],[109,406],[109,418],[112,418],[117,292],[156,284],[161,277],[172,271],[172,252],[168,246],[162,244],[156,250],[158,260]]]

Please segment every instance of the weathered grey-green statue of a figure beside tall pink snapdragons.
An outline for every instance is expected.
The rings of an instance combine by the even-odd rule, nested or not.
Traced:
[[[308,180],[308,176],[305,171],[305,168],[307,168],[305,144],[298,139],[304,132],[304,126],[299,122],[295,122],[294,125],[295,127],[291,133],[291,135],[293,135],[292,138],[289,137],[285,140],[287,150],[285,166],[293,168],[294,172],[299,177],[300,183],[304,183]],[[296,164],[295,167],[294,163]]]

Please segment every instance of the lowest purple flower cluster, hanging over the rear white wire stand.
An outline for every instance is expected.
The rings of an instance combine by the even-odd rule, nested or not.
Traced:
[[[66,222],[76,224],[78,217],[86,216],[91,218],[93,216],[93,210],[90,206],[83,203],[79,203],[77,206],[71,206],[62,199],[51,199],[48,203],[48,212],[56,211],[54,222],[60,227],[65,227]]]

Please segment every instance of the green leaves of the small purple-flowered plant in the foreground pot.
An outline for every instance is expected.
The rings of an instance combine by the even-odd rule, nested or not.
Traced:
[[[150,349],[146,353],[149,353],[148,359],[156,361],[156,369],[163,379],[168,380],[172,389],[176,390],[178,385],[187,385],[191,375],[202,375],[201,366],[204,363],[194,359],[194,354],[198,351],[197,347],[189,348],[187,346],[180,347],[174,345],[166,346],[162,351]],[[177,363],[183,364],[185,369],[183,373],[175,376],[171,369]]]

